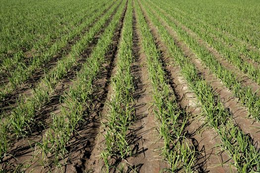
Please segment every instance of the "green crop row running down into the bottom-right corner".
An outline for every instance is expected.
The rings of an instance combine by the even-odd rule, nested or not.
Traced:
[[[228,151],[236,169],[239,172],[259,171],[260,165],[258,160],[260,159],[260,154],[254,147],[252,139],[234,125],[232,115],[223,107],[219,99],[216,99],[217,94],[200,77],[195,65],[185,57],[183,51],[174,43],[170,34],[150,9],[147,8],[146,11],[158,28],[160,37],[167,46],[170,55],[174,57],[177,65],[181,67],[182,75],[200,101],[203,114],[206,116],[205,121],[221,137],[222,143],[220,145],[223,150]]]

